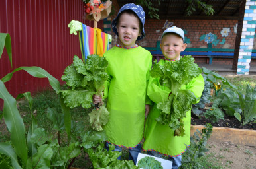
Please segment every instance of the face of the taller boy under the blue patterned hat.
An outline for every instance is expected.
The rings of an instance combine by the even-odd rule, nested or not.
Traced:
[[[141,36],[139,18],[131,14],[123,13],[119,18],[117,32],[122,46],[135,46],[138,36]]]

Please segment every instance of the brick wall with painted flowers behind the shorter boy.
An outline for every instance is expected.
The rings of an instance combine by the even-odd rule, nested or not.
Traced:
[[[207,42],[200,40],[200,37],[212,33],[216,35],[216,44],[213,48],[235,48],[236,33],[234,30],[237,20],[154,20],[146,19],[145,33],[146,37],[139,42],[141,46],[155,47],[157,40],[166,27],[166,22],[172,26],[178,26],[185,32],[186,43],[189,48],[206,48]],[[223,28],[229,28],[227,37],[223,37],[221,31]]]

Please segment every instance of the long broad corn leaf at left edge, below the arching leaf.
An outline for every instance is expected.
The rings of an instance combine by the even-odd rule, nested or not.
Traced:
[[[23,119],[17,109],[17,102],[0,81],[0,98],[3,99],[3,117],[5,124],[11,133],[11,142],[17,155],[27,163],[27,144],[25,139],[25,127]]]

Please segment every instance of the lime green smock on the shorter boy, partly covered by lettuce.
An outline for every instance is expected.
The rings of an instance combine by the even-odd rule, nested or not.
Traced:
[[[164,65],[166,60],[160,60],[159,63]],[[204,90],[204,79],[202,75],[195,77],[190,83],[183,85],[181,89],[192,91],[196,98],[200,98]],[[186,145],[190,145],[190,123],[191,110],[186,112],[184,120],[185,135],[183,137],[174,137],[174,130],[170,129],[168,125],[162,125],[155,121],[160,116],[160,110],[157,109],[157,103],[162,102],[168,98],[170,89],[161,86],[159,79],[150,77],[147,94],[154,102],[151,106],[149,116],[145,124],[145,142],[143,143],[144,151],[157,151],[166,156],[179,156],[186,151]]]

